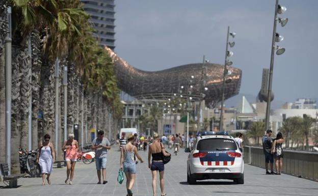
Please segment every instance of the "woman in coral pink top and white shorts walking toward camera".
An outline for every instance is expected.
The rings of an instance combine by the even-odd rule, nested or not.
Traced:
[[[64,142],[62,150],[66,150],[65,162],[67,166],[65,184],[73,184],[74,168],[77,161],[78,142],[74,139],[74,134],[68,134],[67,141]],[[69,180],[69,182],[68,182]]]

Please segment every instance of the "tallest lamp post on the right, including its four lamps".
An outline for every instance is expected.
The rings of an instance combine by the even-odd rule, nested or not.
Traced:
[[[277,21],[281,23],[281,26],[285,26],[288,21],[288,18],[279,18],[277,14],[282,14],[286,11],[286,7],[280,6],[278,4],[278,0],[276,0],[275,4],[275,16],[274,16],[274,27],[273,27],[273,38],[272,38],[272,51],[271,51],[271,64],[270,64],[270,75],[269,75],[269,83],[268,83],[268,93],[267,93],[267,107],[266,107],[266,120],[265,120],[265,131],[269,129],[270,124],[270,111],[271,111],[271,97],[272,97],[272,80],[273,80],[273,68],[274,68],[274,52],[275,49],[276,54],[280,55],[285,52],[285,48],[281,48],[279,46],[275,47],[275,42],[280,42],[284,38],[276,33],[276,24]]]

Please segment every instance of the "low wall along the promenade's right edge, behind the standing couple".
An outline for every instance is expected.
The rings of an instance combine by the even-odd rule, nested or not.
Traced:
[[[318,180],[318,153],[283,150],[283,172],[303,178]],[[260,147],[244,147],[244,162],[265,167],[265,156]],[[274,170],[275,170],[274,161]]]

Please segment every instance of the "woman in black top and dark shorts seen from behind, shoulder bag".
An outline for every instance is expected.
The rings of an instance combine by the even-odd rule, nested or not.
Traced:
[[[157,171],[159,171],[160,176],[160,189],[161,195],[165,196],[167,193],[164,191],[164,170],[165,165],[163,163],[163,155],[170,156],[169,153],[165,151],[165,146],[160,142],[160,135],[157,133],[153,134],[153,143],[149,145],[148,152],[148,167],[152,174],[152,190],[153,195],[156,195],[156,178]],[[152,156],[152,162],[150,163],[150,156]]]

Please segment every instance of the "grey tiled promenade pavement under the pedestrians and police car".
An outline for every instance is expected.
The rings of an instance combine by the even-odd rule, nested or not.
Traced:
[[[170,150],[171,151],[171,150]],[[137,178],[133,188],[134,195],[152,195],[151,173],[147,166],[147,152],[141,151],[145,163],[137,164]],[[117,182],[119,152],[113,148],[109,152],[107,180],[105,185],[96,184],[95,163],[76,163],[73,185],[64,184],[66,169],[54,168],[51,185],[40,185],[41,178],[22,178],[18,180],[19,188],[9,189],[0,182],[0,196],[13,195],[126,195],[125,180]],[[165,168],[165,191],[167,196],[207,196],[207,195],[318,195],[318,183],[289,175],[264,175],[264,170],[245,165],[245,184],[237,185],[230,180],[199,181],[197,185],[189,185],[186,176],[187,154],[179,152],[172,155],[172,160]],[[157,183],[157,195],[160,186]]]

